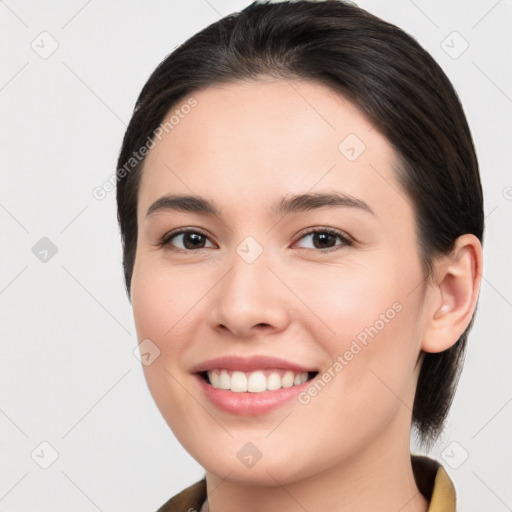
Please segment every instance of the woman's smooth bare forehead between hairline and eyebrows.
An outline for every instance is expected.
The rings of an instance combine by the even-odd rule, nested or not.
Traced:
[[[183,108],[191,97],[195,106]],[[391,146],[355,105],[324,85],[221,84],[184,98],[166,119],[171,115],[172,129],[155,139],[144,164],[142,208],[171,192],[239,201],[246,209],[261,208],[270,196],[332,189],[365,196],[376,209],[396,202]]]

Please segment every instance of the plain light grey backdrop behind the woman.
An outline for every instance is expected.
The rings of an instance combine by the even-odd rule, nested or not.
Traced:
[[[133,355],[115,193],[99,201],[92,190],[115,172],[156,65],[248,4],[0,3],[2,512],[154,512],[203,474],[160,417]],[[487,215],[484,280],[448,428],[430,456],[454,480],[461,511],[511,510],[512,2],[359,5],[431,52],[472,129]],[[42,237],[58,250],[46,262],[32,251]]]

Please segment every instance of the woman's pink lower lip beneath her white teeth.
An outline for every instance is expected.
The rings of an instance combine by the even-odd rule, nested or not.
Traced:
[[[311,384],[311,380],[308,380],[298,386],[276,389],[275,391],[235,393],[226,389],[214,388],[198,374],[196,374],[196,377],[207,398],[214,405],[226,412],[243,416],[256,416],[277,409],[296,398],[301,391],[304,391]]]

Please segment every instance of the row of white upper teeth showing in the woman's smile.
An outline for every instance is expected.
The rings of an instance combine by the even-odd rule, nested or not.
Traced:
[[[299,386],[308,380],[307,372],[274,370],[240,372],[229,370],[210,370],[207,372],[210,384],[217,389],[229,389],[234,393],[262,393],[281,388]]]

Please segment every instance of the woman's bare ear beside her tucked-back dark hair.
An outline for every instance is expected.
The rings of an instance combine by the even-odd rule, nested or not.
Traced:
[[[421,345],[424,352],[450,348],[465,331],[476,308],[482,268],[482,244],[471,234],[457,238],[451,253],[436,261]]]

